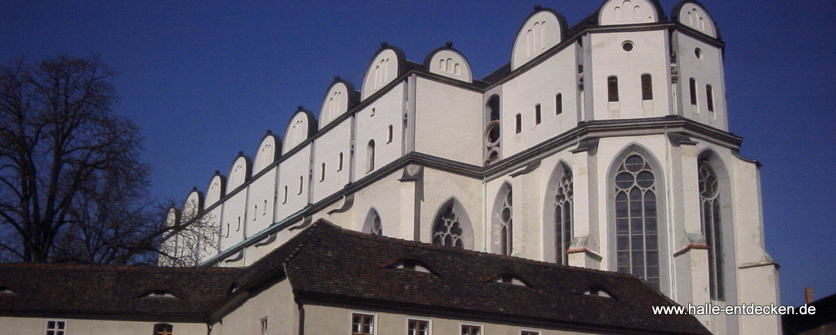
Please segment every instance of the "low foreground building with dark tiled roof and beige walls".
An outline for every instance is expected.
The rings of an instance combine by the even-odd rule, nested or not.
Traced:
[[[708,333],[629,274],[326,222],[244,268],[0,264],[0,283],[0,334]]]

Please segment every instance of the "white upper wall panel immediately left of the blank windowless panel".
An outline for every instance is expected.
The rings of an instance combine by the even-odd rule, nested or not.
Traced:
[[[400,158],[403,152],[402,135],[405,82],[392,87],[389,92],[366,105],[355,114],[356,130],[354,134],[354,178],[359,180],[370,172],[384,167],[387,163]],[[388,141],[389,126],[392,126],[392,140]],[[368,168],[368,145],[375,140],[375,169]]]

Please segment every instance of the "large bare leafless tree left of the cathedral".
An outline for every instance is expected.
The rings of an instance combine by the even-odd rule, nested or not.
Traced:
[[[181,229],[146,200],[140,133],[111,109],[113,76],[97,57],[0,67],[0,259],[147,263]]]

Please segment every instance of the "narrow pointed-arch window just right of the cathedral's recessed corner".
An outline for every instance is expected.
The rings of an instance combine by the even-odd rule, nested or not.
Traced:
[[[491,253],[511,255],[513,250],[513,188],[502,183],[491,211]]]

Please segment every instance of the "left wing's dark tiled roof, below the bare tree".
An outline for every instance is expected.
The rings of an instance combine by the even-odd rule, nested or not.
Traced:
[[[0,264],[0,314],[202,320],[227,298],[232,268]],[[166,291],[176,298],[140,298]]]

